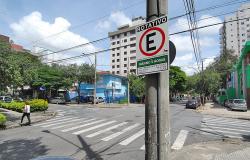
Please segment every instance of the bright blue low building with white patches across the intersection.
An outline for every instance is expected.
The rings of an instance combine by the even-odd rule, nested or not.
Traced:
[[[113,75],[109,72],[99,72],[97,81],[96,97],[102,97],[107,102],[120,101],[128,97],[128,81],[126,77]],[[94,95],[94,84],[81,83],[80,85],[81,100],[85,101],[86,97]],[[76,99],[78,93],[73,90],[69,91],[68,99]]]

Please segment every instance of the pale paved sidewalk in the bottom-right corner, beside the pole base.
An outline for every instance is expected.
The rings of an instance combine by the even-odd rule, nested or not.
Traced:
[[[198,143],[173,151],[171,160],[249,160],[250,142],[224,140]]]

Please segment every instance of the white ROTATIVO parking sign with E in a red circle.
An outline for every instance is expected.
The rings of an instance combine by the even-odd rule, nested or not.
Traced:
[[[167,16],[164,16],[136,27],[137,75],[169,68],[167,21]]]

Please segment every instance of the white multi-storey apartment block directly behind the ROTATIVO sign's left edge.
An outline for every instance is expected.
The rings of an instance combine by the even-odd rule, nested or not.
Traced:
[[[127,76],[136,73],[136,35],[137,25],[145,23],[143,17],[133,18],[132,24],[120,26],[109,32],[112,74]]]

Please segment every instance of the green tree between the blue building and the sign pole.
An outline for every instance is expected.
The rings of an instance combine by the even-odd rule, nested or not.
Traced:
[[[129,91],[130,94],[136,97],[142,97],[145,95],[145,79],[143,76],[137,76],[130,74],[129,80]]]

